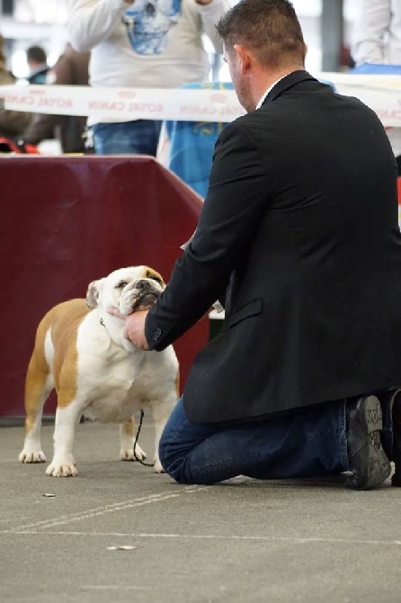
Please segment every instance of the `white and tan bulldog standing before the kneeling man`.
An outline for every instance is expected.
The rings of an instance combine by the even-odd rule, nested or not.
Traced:
[[[40,446],[43,405],[58,396],[54,456],[47,475],[77,475],[73,455],[76,424],[83,415],[120,423],[120,459],[143,460],[134,445],[133,413],[149,408],[155,422],[155,471],[162,472],[157,448],[178,398],[178,361],[172,346],[145,352],[123,337],[121,314],[149,307],[165,283],[148,266],[120,268],[89,284],[86,301],[60,303],[41,320],[25,383],[25,442],[21,463],[44,463]]]

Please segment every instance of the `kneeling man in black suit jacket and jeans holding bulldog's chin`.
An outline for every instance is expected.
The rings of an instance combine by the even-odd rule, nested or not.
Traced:
[[[243,0],[218,31],[247,113],[218,138],[165,292],[126,322],[134,344],[162,350],[226,297],[162,464],[185,483],[350,471],[346,485],[368,490],[390,458],[401,485],[401,238],[386,132],[304,70],[288,0]]]

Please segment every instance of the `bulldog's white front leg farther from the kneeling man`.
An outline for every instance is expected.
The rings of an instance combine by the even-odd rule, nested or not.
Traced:
[[[76,401],[66,408],[56,410],[54,427],[54,456],[46,469],[52,477],[75,477],[78,474],[73,455],[76,424],[82,415],[82,407]]]

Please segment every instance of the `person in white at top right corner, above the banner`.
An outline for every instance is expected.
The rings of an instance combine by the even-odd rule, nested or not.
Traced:
[[[400,0],[360,0],[352,58],[357,65],[401,65]]]

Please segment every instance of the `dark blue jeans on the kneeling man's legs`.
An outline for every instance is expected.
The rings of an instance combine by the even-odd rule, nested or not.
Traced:
[[[159,455],[165,472],[179,483],[211,484],[236,475],[273,480],[343,473],[349,469],[345,401],[223,426],[192,423],[180,398]]]

